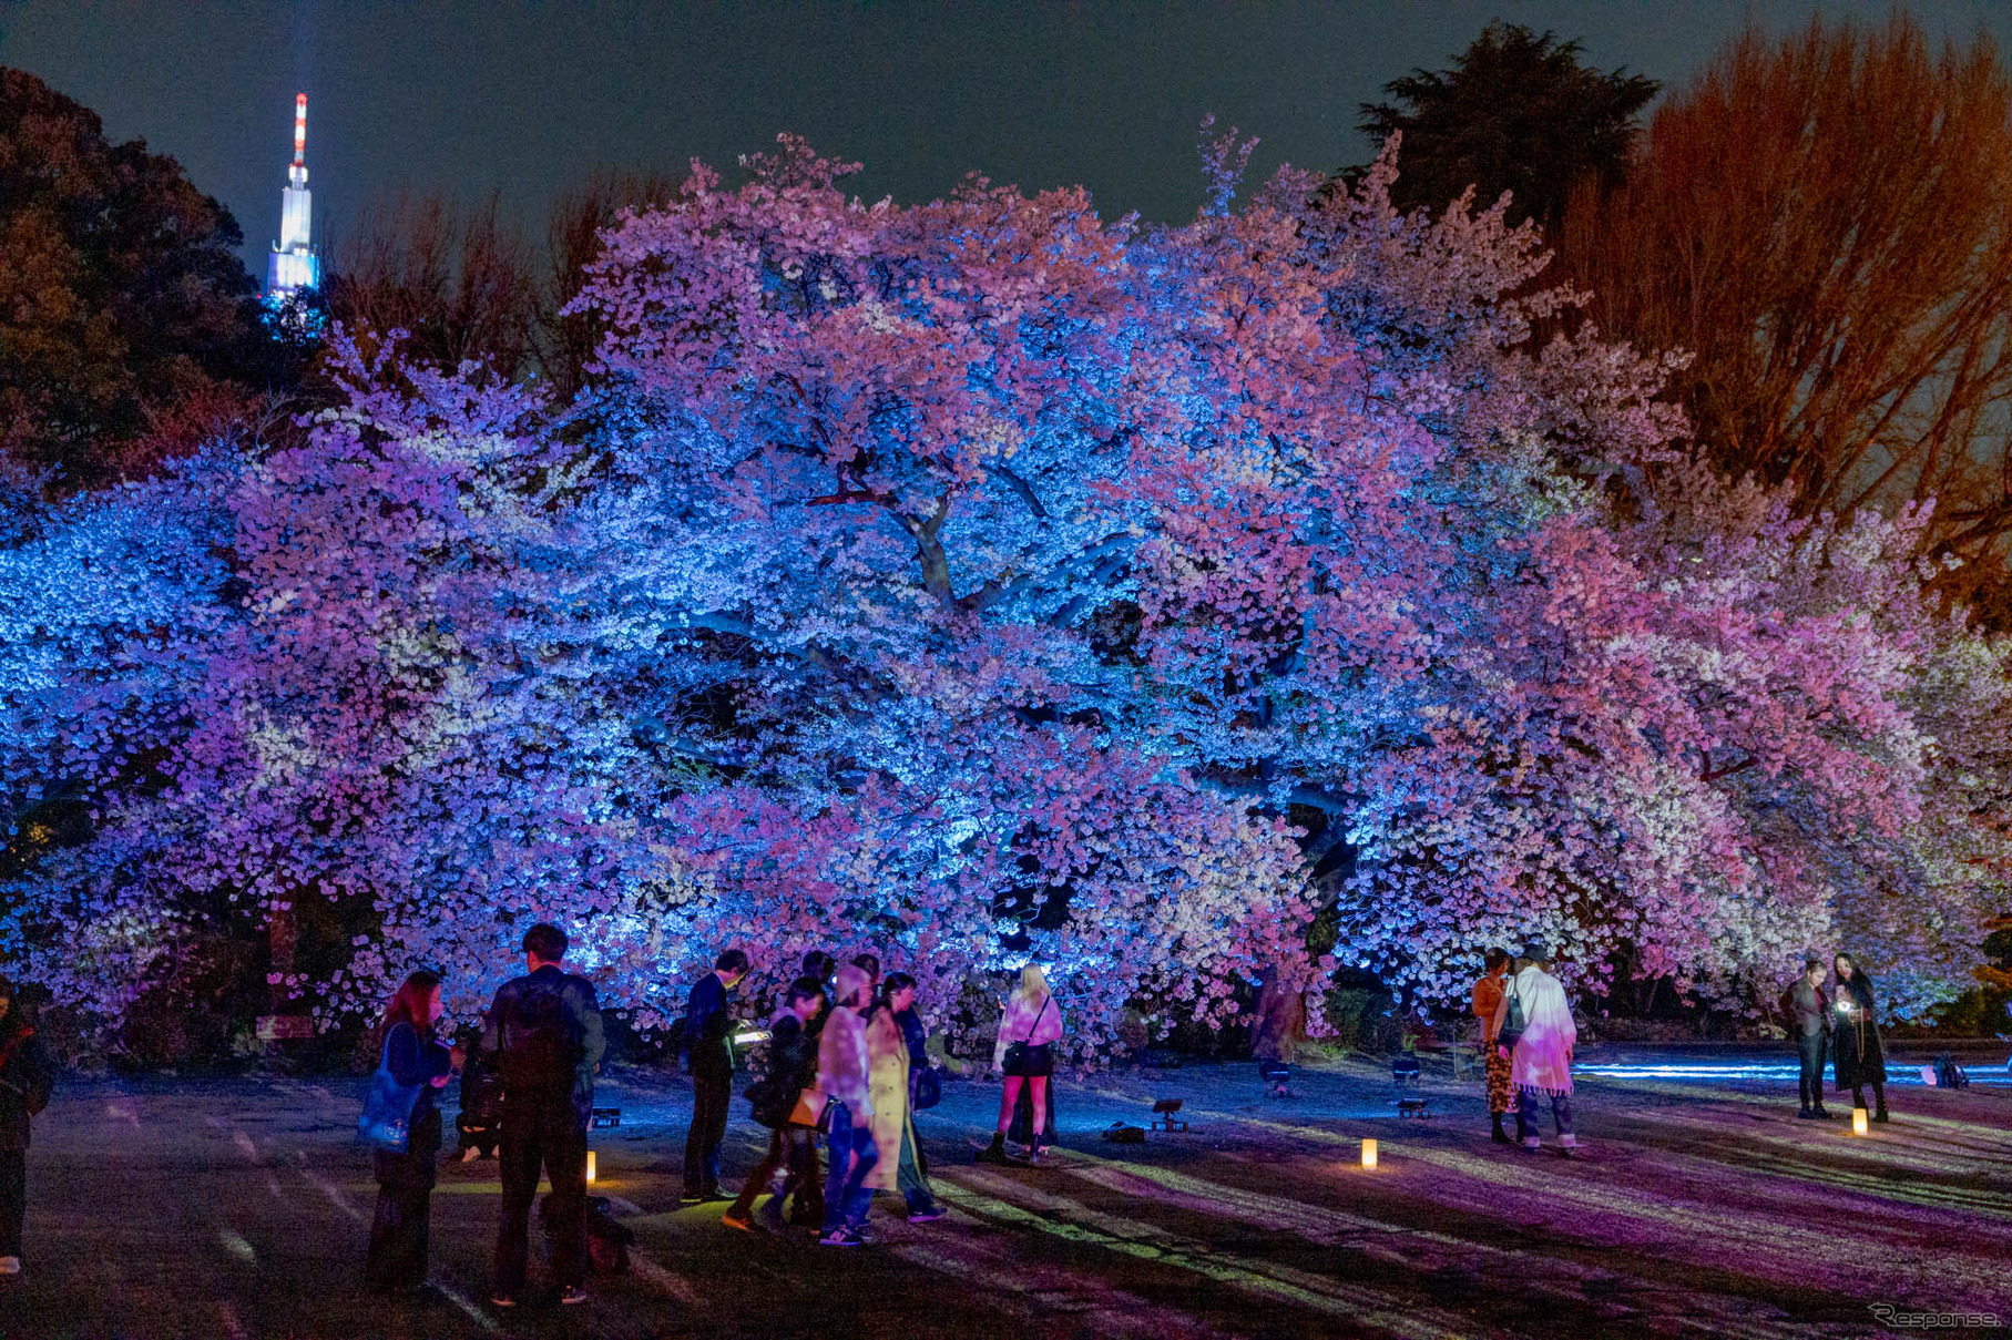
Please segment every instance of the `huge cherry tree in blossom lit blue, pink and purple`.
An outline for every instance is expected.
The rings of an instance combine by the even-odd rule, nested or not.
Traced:
[[[278,982],[332,1020],[421,964],[467,1010],[555,917],[644,1026],[722,944],[946,1014],[1034,958],[1080,1058],[1529,934],[1585,986],[1843,940],[1962,990],[2012,694],[1919,521],[1795,521],[1688,463],[1666,362],[1531,350],[1573,298],[1499,207],[1398,215],[1388,159],[1237,205],[1245,155],[1147,229],[783,139],[608,233],[577,402],[350,354],[302,443],[42,519],[6,785],[97,819],[8,954],[117,1010],[177,928],[332,907]]]

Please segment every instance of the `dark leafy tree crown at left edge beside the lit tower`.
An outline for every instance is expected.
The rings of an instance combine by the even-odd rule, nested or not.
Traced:
[[[91,487],[268,390],[284,358],[241,241],[175,159],[0,68],[0,451]]]

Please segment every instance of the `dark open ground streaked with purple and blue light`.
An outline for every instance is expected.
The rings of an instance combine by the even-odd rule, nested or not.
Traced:
[[[1664,1060],[1698,1060],[1664,1052]],[[1589,1060],[1640,1062],[1608,1054]],[[1718,1066],[1726,1058],[1714,1054]],[[1984,1056],[1974,1056],[1984,1070]],[[2004,1064],[1998,1052],[1990,1064]],[[1708,1066],[1710,1068],[1710,1066]],[[1895,1070],[1899,1066],[1895,1064]],[[974,1167],[998,1088],[952,1082],[921,1119],[952,1215],[815,1247],[680,1209],[688,1088],[620,1072],[596,1191],[638,1233],[583,1308],[487,1304],[493,1163],[443,1173],[433,1300],[360,1288],[370,1163],[360,1080],[70,1080],[36,1121],[28,1270],[0,1334],[410,1336],[1855,1336],[1899,1314],[2012,1322],[2012,1088],[1895,1086],[1893,1123],[1795,1117],[1795,1080],[1587,1074],[1583,1149],[1487,1141],[1479,1080],[1429,1066],[1435,1115],[1398,1121],[1368,1062],[1064,1078],[1046,1167]],[[2004,1078],[1998,1070],[1996,1078]],[[453,1091],[449,1091],[453,1093]],[[1113,1145],[1155,1097],[1187,1133]],[[759,1129],[734,1103],[728,1179]],[[1380,1167],[1362,1169],[1362,1137]],[[1944,1324],[1964,1318],[1938,1318]],[[1915,1320],[1919,1326],[1919,1320]],[[1966,1332],[1968,1334],[1968,1332]]]

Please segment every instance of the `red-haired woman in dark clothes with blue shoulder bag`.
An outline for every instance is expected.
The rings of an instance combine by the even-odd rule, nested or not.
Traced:
[[[378,1203],[364,1282],[380,1294],[427,1288],[433,1159],[441,1151],[435,1095],[463,1062],[459,1046],[435,1038],[439,1018],[441,978],[414,972],[384,1010],[384,1052],[358,1123],[376,1149]]]

